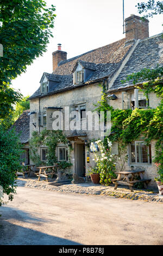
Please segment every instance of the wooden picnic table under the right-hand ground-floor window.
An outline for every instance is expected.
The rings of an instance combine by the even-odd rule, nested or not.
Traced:
[[[130,191],[134,192],[133,185],[136,182],[143,182],[144,187],[148,188],[148,182],[151,179],[145,179],[143,173],[145,170],[126,170],[124,172],[116,172],[118,174],[117,179],[111,180],[113,184],[115,184],[114,190],[117,189],[118,184],[129,186]],[[136,179],[136,176],[140,176],[140,180]]]

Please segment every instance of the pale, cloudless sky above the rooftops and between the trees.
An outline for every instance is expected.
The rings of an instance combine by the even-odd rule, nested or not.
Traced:
[[[124,38],[122,0],[45,0],[47,6],[55,6],[53,38],[47,52],[28,66],[26,73],[12,81],[14,89],[24,95],[32,95],[40,86],[43,72],[52,73],[52,52],[61,44],[62,51],[70,59],[87,51],[108,45]],[[131,14],[140,16],[135,5],[142,2],[124,0],[124,18]],[[143,0],[143,2],[148,2]],[[162,32],[162,16],[149,18],[149,36]]]

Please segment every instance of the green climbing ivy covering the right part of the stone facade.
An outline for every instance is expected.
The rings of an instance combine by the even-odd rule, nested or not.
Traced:
[[[109,137],[111,142],[118,142],[121,148],[125,148],[128,143],[135,141],[143,136],[147,145],[156,140],[155,157],[153,162],[158,167],[159,177],[157,180],[163,182],[163,68],[155,70],[143,69],[136,74],[127,77],[127,81],[131,81],[135,88],[143,90],[147,98],[149,93],[154,92],[161,99],[158,107],[151,109],[113,109],[109,106],[106,93],[102,92],[101,101],[96,105],[96,111],[111,111],[111,134]],[[122,81],[126,82],[126,81]],[[137,85],[138,84],[138,85]],[[104,139],[106,141],[107,137]]]

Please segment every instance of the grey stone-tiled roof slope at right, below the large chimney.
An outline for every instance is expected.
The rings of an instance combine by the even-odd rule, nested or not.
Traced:
[[[116,78],[109,91],[124,89],[132,86],[131,81],[122,83],[127,75],[139,72],[142,69],[155,69],[156,66],[163,66],[163,38],[162,34],[141,40],[136,46],[133,54]]]

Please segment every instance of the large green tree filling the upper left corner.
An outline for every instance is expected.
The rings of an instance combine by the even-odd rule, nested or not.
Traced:
[[[53,36],[54,11],[43,0],[0,0],[0,118],[22,96],[10,87],[11,81],[46,51],[49,36]]]

